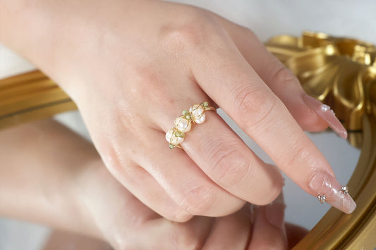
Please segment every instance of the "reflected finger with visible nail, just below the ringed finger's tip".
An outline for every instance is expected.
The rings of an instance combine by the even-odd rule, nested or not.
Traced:
[[[282,193],[271,204],[255,207],[253,232],[248,250],[286,249],[285,207]]]

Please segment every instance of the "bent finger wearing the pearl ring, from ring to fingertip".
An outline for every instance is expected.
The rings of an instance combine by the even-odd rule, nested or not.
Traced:
[[[284,185],[280,170],[258,158],[217,113],[202,111],[205,122],[190,125],[181,142],[184,151],[211,180],[234,196],[260,205],[273,201]],[[162,127],[168,128],[176,117],[174,112],[170,114],[161,120]]]

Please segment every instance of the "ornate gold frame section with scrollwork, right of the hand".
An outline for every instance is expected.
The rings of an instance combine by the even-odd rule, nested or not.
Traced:
[[[294,249],[376,248],[376,46],[304,32],[266,43],[299,78],[305,92],[329,104],[361,148],[348,182],[358,204],[351,215],[331,208]]]

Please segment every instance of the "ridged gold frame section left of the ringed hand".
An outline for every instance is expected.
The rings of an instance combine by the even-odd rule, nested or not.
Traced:
[[[69,96],[39,70],[0,80],[0,129],[75,109]]]

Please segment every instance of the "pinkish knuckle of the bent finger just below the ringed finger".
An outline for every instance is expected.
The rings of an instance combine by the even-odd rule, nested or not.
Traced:
[[[214,204],[215,193],[212,187],[200,186],[190,190],[183,197],[181,207],[193,215],[207,215]]]

